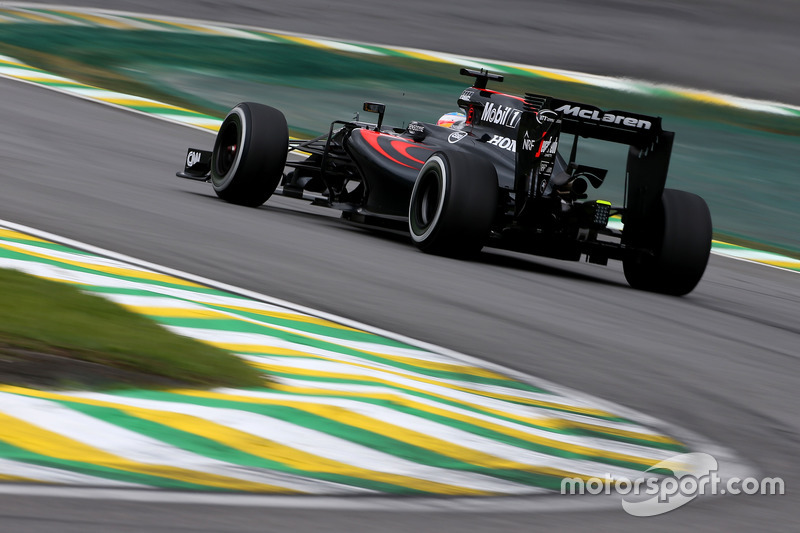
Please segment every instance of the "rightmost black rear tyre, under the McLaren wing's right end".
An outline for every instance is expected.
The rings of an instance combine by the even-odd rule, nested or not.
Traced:
[[[623,259],[625,279],[635,289],[683,296],[703,277],[711,253],[711,213],[696,194],[665,189],[648,220],[644,246],[653,252]]]

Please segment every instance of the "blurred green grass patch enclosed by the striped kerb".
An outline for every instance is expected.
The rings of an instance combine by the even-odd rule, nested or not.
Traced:
[[[75,371],[52,375],[65,368]],[[76,287],[0,269],[0,383],[246,387],[263,386],[264,375]]]

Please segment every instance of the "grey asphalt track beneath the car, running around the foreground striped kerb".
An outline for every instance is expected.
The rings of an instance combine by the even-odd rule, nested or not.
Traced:
[[[180,5],[113,4],[166,14]],[[353,24],[376,23],[357,19],[354,5],[344,5]],[[172,14],[212,18],[213,6],[219,8],[200,3]],[[270,17],[267,8],[228,8],[217,16],[272,27],[301,9],[281,7],[282,17]],[[664,24],[680,20],[659,9]],[[487,11],[477,13],[489,17]],[[333,25],[338,15],[331,17]],[[321,23],[284,29],[334,34]],[[394,44],[445,48],[409,42],[415,35],[406,32],[407,40]],[[441,39],[444,44],[450,37]],[[792,497],[800,484],[796,274],[712,257],[691,295],[670,298],[629,289],[614,264],[496,252],[475,262],[431,257],[406,239],[344,225],[301,202],[273,199],[259,209],[240,208],[217,200],[208,186],[174,178],[187,146],[211,144],[207,133],[19,82],[0,80],[0,94],[4,219],[338,313],[634,407],[732,448],[760,475],[781,476],[787,486],[785,496],[697,500],[647,519],[621,509],[400,514],[4,495],[0,530],[786,531],[800,519]]]

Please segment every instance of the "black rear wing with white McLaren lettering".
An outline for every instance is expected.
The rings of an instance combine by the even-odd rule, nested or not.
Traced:
[[[657,207],[667,181],[675,134],[661,128],[661,117],[559,100],[526,93],[517,133],[514,189],[518,209],[523,198],[536,198],[552,176],[561,134],[575,135],[570,167],[574,167],[578,138],[627,144],[625,220],[643,219]],[[634,224],[636,226],[637,224]]]

